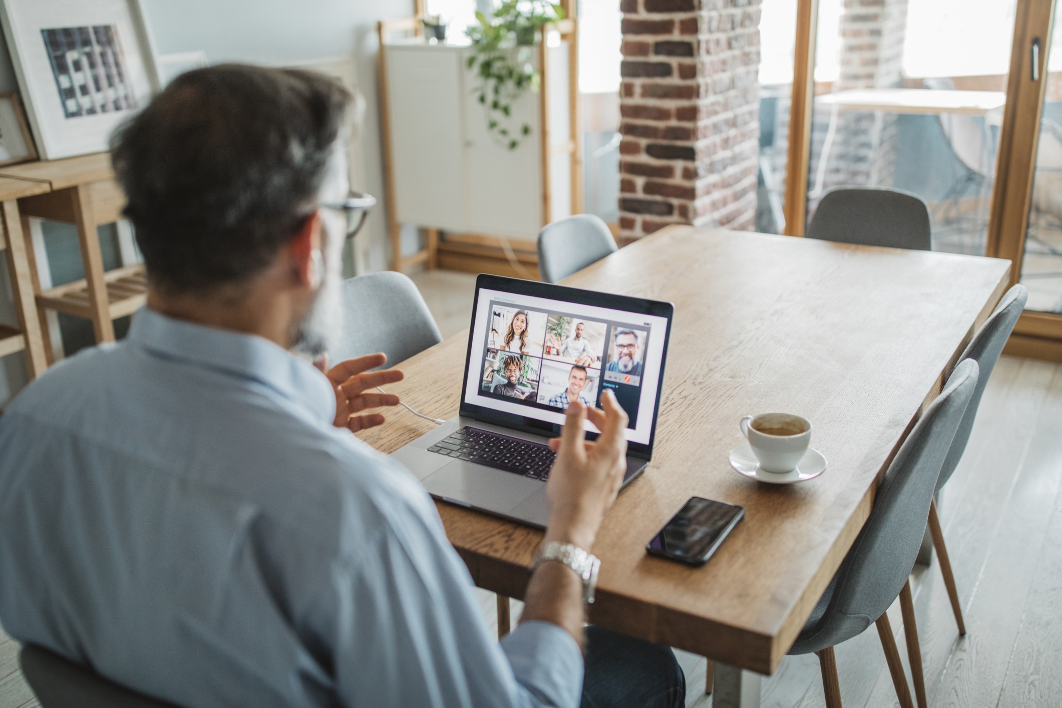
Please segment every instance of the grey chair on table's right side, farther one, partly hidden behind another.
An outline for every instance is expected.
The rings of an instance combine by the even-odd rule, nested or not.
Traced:
[[[984,321],[981,328],[977,330],[974,339],[966,345],[962,356],[959,358],[960,362],[965,359],[976,361],[980,368],[980,375],[977,379],[977,387],[974,390],[974,397],[970,400],[970,407],[966,409],[965,415],[962,416],[962,422],[959,424],[959,430],[952,442],[952,449],[948,450],[947,457],[944,460],[944,466],[940,470],[940,479],[937,481],[938,490],[952,477],[952,472],[959,465],[959,460],[962,459],[962,453],[966,449],[966,443],[970,442],[970,431],[974,427],[974,418],[977,417],[977,407],[981,402],[981,394],[984,393],[984,384],[989,382],[992,369],[995,367],[996,362],[999,361],[1003,347],[1007,344],[1007,339],[1014,329],[1017,316],[1025,309],[1025,301],[1027,299],[1029,299],[1029,291],[1025,289],[1025,286],[1017,284],[1008,290],[1007,294],[999,300],[999,305],[995,311]],[[940,559],[940,571],[944,575],[944,587],[947,588],[947,597],[952,601],[952,611],[955,614],[956,624],[959,625],[959,635],[965,635],[966,625],[962,621],[959,592],[955,587],[955,576],[952,574],[952,562],[947,557],[944,534],[941,531],[940,519],[937,516],[936,500],[929,505],[929,535],[932,536],[932,545],[937,550],[937,557]]]

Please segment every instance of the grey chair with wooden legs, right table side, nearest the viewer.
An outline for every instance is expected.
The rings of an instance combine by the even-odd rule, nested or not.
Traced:
[[[907,677],[886,610],[900,597],[907,652],[919,705],[925,706],[922,653],[908,576],[922,545],[937,480],[955,432],[977,386],[977,362],[955,367],[947,385],[929,404],[885,472],[874,508],[789,654],[819,656],[827,708],[840,708],[834,646],[877,624],[900,705],[911,708]],[[910,620],[910,621],[908,621]]]

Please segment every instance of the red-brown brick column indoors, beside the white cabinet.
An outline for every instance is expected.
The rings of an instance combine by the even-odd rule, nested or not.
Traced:
[[[620,228],[751,229],[760,0],[621,0]]]

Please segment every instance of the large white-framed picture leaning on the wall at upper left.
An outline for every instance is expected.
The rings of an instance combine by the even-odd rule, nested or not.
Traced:
[[[44,159],[106,150],[159,88],[139,0],[0,0],[0,19]]]

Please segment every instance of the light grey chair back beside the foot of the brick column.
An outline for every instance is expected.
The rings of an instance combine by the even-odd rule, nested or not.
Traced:
[[[567,217],[538,231],[538,272],[546,282],[559,282],[615,251],[616,239],[599,217]]]

